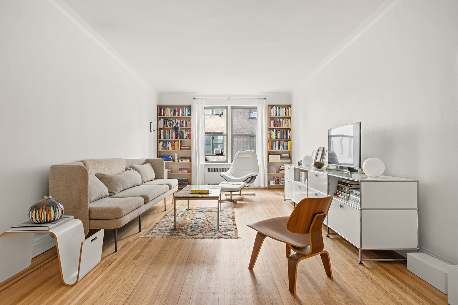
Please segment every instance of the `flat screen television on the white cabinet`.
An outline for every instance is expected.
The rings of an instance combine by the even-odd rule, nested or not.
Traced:
[[[327,130],[327,163],[361,168],[361,122]]]

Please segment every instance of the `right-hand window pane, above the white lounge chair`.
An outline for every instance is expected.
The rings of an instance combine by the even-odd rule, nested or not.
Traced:
[[[231,161],[237,150],[256,150],[256,108],[232,107]]]

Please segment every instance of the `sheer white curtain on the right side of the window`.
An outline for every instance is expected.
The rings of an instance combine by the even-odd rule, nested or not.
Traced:
[[[255,187],[267,187],[267,102],[265,98],[257,99],[256,112],[256,155],[259,174],[253,185]]]

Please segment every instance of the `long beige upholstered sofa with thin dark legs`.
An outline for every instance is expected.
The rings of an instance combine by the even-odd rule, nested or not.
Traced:
[[[62,202],[66,215],[82,221],[85,235],[89,229],[114,229],[116,252],[116,229],[138,217],[141,231],[140,215],[162,200],[165,209],[165,198],[178,190],[178,180],[164,179],[164,168],[162,159],[89,159],[53,165],[49,195]]]

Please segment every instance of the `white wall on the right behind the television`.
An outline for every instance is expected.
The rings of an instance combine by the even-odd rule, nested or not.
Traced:
[[[420,181],[421,251],[454,264],[457,16],[456,0],[387,1],[292,92],[294,161],[327,146],[327,128],[361,121],[362,161]]]

